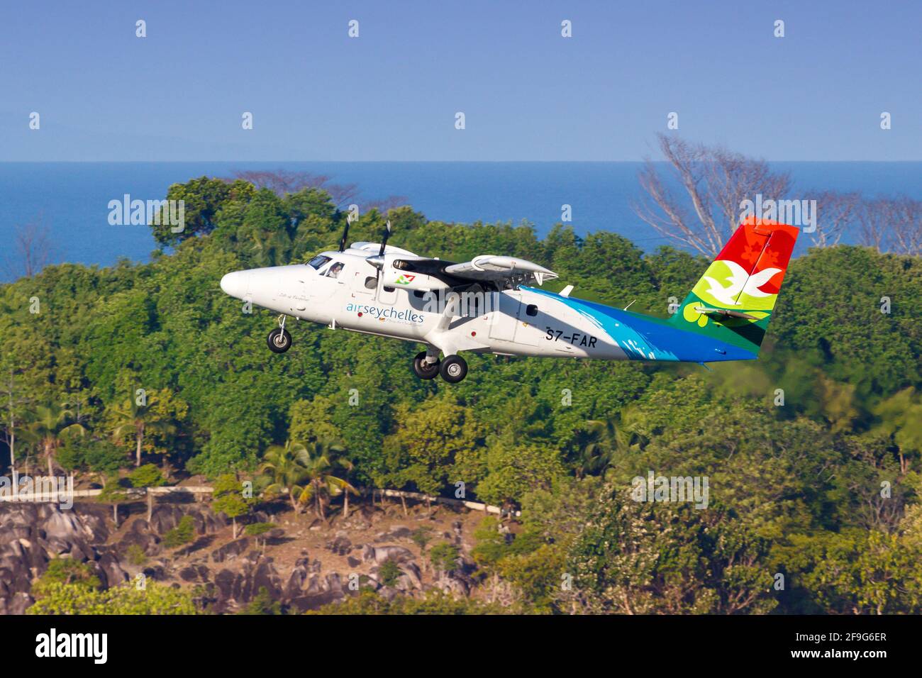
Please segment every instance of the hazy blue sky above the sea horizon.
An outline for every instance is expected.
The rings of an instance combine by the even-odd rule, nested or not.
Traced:
[[[917,161],[920,25],[909,0],[5,3],[0,161],[633,161],[673,111],[768,160]]]

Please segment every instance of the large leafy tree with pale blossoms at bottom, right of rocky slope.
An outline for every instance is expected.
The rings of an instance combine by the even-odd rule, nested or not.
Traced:
[[[777,604],[768,550],[713,501],[706,511],[642,503],[609,484],[568,549],[565,571],[589,613],[767,613]]]

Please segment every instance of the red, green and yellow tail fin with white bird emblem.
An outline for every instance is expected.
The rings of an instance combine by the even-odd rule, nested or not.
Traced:
[[[670,322],[759,353],[798,229],[750,217],[730,237]]]

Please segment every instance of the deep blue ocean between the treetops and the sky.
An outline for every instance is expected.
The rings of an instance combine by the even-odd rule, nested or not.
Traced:
[[[922,199],[922,162],[773,162],[791,172],[798,196],[811,191],[904,193]],[[33,220],[49,232],[52,262],[108,266],[121,257],[148,261],[156,248],[146,226],[109,224],[110,200],[124,194],[162,199],[170,184],[236,171],[284,169],[357,184],[362,200],[405,196],[431,220],[527,220],[543,235],[572,206],[573,229],[612,231],[646,251],[668,241],[632,209],[641,196],[640,162],[6,162],[0,163],[0,280],[17,262],[11,239]],[[798,251],[806,248],[806,239]],[[395,241],[397,242],[397,241]],[[438,253],[420,253],[437,256]]]

